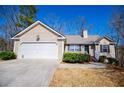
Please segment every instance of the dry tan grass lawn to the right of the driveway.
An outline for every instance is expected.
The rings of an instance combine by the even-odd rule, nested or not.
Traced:
[[[50,87],[118,87],[124,86],[124,70],[59,68]]]

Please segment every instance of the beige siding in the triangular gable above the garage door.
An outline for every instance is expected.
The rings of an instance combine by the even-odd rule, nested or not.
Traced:
[[[36,37],[39,35],[40,41],[55,41],[57,42],[57,35],[53,34],[51,31],[41,26],[36,25],[30,31],[27,31],[22,36],[20,36],[20,41],[36,41]]]

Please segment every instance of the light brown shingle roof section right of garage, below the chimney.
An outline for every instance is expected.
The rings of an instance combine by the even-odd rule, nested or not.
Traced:
[[[80,35],[65,35],[66,37],[66,44],[92,44],[96,41],[100,36],[93,35],[88,36],[88,38],[83,38]]]

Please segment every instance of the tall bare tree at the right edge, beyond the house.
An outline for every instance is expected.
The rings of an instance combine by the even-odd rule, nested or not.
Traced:
[[[118,11],[113,15],[111,27],[114,31],[113,38],[117,41],[116,57],[120,66],[124,66],[124,6],[119,6]]]

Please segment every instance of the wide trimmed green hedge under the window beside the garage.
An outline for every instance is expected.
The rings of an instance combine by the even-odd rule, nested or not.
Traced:
[[[90,61],[90,55],[67,52],[67,53],[64,53],[63,61],[69,62],[69,63],[89,62]]]

